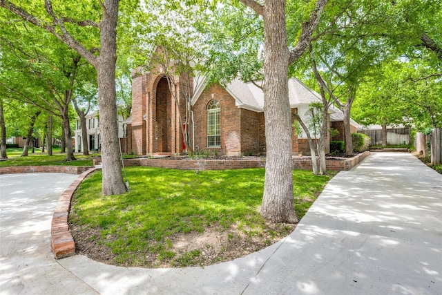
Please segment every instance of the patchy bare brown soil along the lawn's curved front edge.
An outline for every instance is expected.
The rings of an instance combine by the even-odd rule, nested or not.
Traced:
[[[91,238],[99,236],[96,229],[85,230],[71,224],[70,231],[75,240],[77,254],[109,265],[156,268],[207,266],[247,256],[278,242],[289,235],[295,227],[296,225],[268,222],[264,230],[258,231],[238,225],[233,225],[227,230],[222,229],[219,225],[212,225],[206,227],[202,233],[190,232],[167,237],[171,241],[171,248],[168,250],[175,253],[173,258],[162,258],[157,253],[146,251],[137,254],[135,265],[133,263],[117,263],[116,254],[112,253],[110,247]],[[115,238],[108,236],[106,242]],[[149,245],[154,245],[156,241],[149,240],[148,242]],[[189,253],[198,253],[198,255],[189,258]]]

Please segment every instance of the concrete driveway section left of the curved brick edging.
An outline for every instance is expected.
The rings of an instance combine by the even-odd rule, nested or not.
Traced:
[[[93,293],[50,253],[55,205],[77,177],[65,173],[0,175],[0,294]]]

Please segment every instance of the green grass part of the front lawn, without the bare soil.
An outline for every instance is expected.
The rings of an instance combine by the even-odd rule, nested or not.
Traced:
[[[149,254],[180,267],[195,265],[200,252],[177,254],[173,235],[201,233],[214,225],[219,231],[240,225],[253,236],[265,227],[258,211],[264,169],[197,175],[195,171],[128,167],[126,173],[130,192],[119,196],[102,196],[101,171],[81,182],[70,215],[78,229],[96,233],[91,239],[111,249],[117,265],[145,265],[143,257]],[[293,177],[295,209],[302,218],[330,176],[296,170]]]

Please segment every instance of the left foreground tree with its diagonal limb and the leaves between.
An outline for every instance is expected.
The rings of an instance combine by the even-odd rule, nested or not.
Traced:
[[[43,3],[41,3],[43,4]],[[103,185],[105,196],[126,192],[119,160],[115,62],[117,60],[118,0],[77,4],[44,0],[44,9],[35,3],[0,0],[0,6],[38,26],[77,51],[97,70],[100,134],[102,138]],[[32,11],[34,14],[31,14]],[[84,19],[81,19],[84,17]],[[99,37],[99,41],[93,37]],[[93,39],[93,41],[91,41]],[[95,40],[95,42],[94,42]],[[99,48],[98,48],[99,46]]]

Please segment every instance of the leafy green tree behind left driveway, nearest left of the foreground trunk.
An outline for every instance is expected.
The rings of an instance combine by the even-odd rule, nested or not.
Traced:
[[[0,87],[8,89],[10,99],[61,117],[65,161],[75,160],[69,106],[81,57],[47,32],[26,23],[3,23],[1,33]],[[52,48],[46,47],[48,41],[52,41]]]

